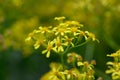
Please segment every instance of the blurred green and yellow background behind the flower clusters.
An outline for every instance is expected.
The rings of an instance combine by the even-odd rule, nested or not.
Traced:
[[[56,16],[77,20],[96,35],[100,43],[75,50],[85,60],[96,60],[96,77],[110,80],[106,54],[120,49],[120,0],[0,0],[0,80],[39,80],[49,63],[58,61],[25,43],[29,32],[54,25]]]

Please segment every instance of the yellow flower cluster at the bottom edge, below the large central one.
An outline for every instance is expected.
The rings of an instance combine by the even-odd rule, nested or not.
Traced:
[[[63,69],[61,64],[51,63],[51,70],[41,80],[94,80],[93,65],[96,64],[95,61],[90,63],[82,61],[82,57],[74,52],[68,54],[67,60],[70,60],[68,63],[76,62],[76,65],[71,68],[66,66]]]

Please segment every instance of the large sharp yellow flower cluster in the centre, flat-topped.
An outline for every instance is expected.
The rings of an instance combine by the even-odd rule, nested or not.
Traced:
[[[46,53],[46,57],[49,58],[51,51],[63,53],[67,47],[78,47],[89,40],[97,40],[94,34],[82,31],[83,25],[79,22],[63,21],[63,19],[65,17],[55,17],[55,20],[60,22],[58,25],[40,26],[38,30],[29,33],[26,41],[33,40],[35,49],[44,46],[46,49],[42,51],[42,54]],[[82,39],[84,42],[81,42]]]

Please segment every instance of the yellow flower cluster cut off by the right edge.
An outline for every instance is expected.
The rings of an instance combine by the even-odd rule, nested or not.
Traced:
[[[116,53],[112,53],[110,55],[107,55],[109,57],[113,57],[113,62],[107,62],[107,65],[109,70],[106,70],[107,74],[111,74],[113,80],[119,80],[120,79],[120,50],[118,50]]]

